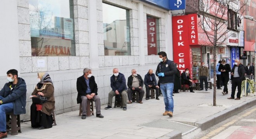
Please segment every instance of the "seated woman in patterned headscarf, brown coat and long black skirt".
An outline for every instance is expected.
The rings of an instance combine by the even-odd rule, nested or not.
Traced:
[[[32,103],[30,107],[31,127],[39,129],[51,128],[53,119],[52,112],[55,108],[54,86],[48,73],[38,73],[38,84],[33,91],[33,97],[40,95],[46,97],[47,102],[42,105]]]

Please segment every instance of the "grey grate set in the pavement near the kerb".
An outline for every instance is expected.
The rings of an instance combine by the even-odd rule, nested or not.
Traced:
[[[183,123],[180,123],[180,122],[175,122],[175,121],[170,121],[170,120],[163,120],[163,119],[154,120],[152,122],[148,122],[148,123],[145,123],[145,124],[140,124],[138,126],[156,127],[156,128],[163,128],[163,129],[173,129],[173,130],[181,131],[182,135],[185,135],[185,134],[197,129],[197,127],[192,126],[192,125],[187,125],[187,124],[183,124]]]

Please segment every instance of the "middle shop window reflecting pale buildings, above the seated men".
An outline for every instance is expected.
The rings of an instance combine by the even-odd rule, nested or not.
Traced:
[[[105,56],[131,55],[129,10],[103,3]]]

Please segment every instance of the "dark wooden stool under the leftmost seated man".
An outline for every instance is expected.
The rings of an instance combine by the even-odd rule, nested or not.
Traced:
[[[21,122],[19,115],[13,113],[6,114],[6,131],[11,132],[11,135],[21,133]]]

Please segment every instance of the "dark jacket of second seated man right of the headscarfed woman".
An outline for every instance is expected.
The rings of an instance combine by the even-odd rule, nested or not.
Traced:
[[[118,90],[118,92],[121,93],[123,90],[127,90],[125,75],[119,73],[117,79],[115,79],[115,76],[112,75],[110,77],[110,86],[114,92]]]

